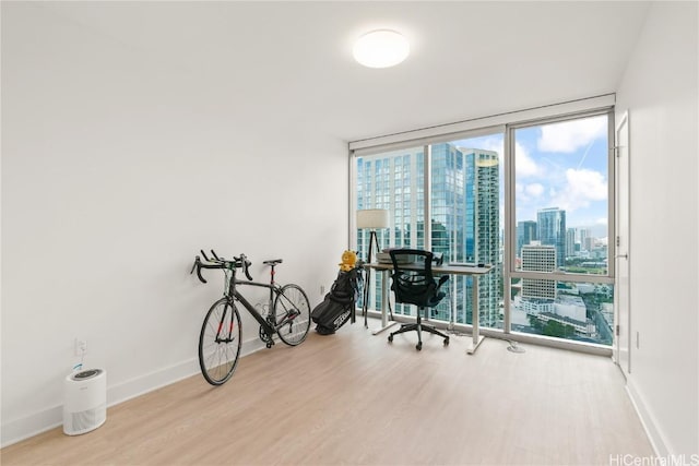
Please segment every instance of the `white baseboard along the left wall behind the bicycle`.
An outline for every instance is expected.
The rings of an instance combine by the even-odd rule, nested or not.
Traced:
[[[242,343],[240,356],[245,357],[264,348],[259,337]],[[108,371],[108,368],[107,368]],[[198,358],[190,358],[151,373],[107,386],[107,406],[111,407],[163,386],[179,382],[199,373]],[[107,374],[108,375],[108,374]],[[109,379],[107,377],[107,383]],[[2,422],[0,447],[37,435],[63,425],[63,405],[58,404],[19,419]]]

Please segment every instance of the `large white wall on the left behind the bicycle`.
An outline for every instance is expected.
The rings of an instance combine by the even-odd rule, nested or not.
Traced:
[[[75,337],[107,369],[110,404],[198,372],[223,283],[189,275],[200,248],[245,252],[260,278],[283,258],[279,280],[317,304],[347,244],[348,190],[344,142],[236,113],[198,70],[3,3],[7,445],[61,422]],[[258,326],[244,327],[251,350]]]

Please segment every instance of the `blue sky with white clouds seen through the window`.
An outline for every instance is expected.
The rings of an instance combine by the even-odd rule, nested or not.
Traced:
[[[606,237],[607,117],[518,129],[514,143],[517,222],[536,220],[540,208],[559,207],[566,211],[568,228],[590,228],[593,236]],[[502,134],[454,145],[495,151],[502,163]],[[505,212],[502,172],[500,212]]]

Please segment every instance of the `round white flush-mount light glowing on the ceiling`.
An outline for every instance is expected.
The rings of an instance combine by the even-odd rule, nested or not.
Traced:
[[[372,31],[359,37],[352,53],[365,67],[388,68],[405,60],[411,47],[400,33],[389,29]]]

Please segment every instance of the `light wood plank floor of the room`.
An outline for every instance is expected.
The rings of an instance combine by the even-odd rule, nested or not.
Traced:
[[[371,324],[371,322],[370,322]],[[370,325],[371,326],[371,325]],[[487,338],[311,331],[122,403],[79,437],[54,429],[0,451],[10,465],[608,465],[651,456],[608,358]]]

